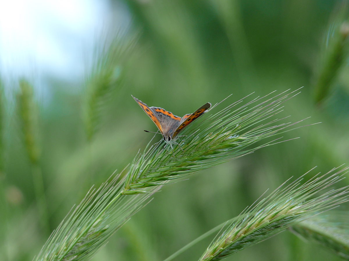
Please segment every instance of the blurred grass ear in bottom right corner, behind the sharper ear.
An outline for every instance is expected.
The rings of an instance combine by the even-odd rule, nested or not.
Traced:
[[[290,227],[297,236],[325,246],[349,260],[349,212],[329,211]]]

